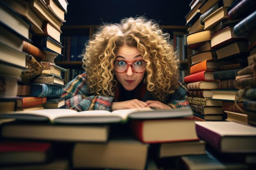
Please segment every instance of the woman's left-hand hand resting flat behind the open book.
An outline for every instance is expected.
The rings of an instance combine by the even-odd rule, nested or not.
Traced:
[[[111,106],[111,110],[120,110],[120,109],[128,109],[128,108],[145,108],[148,106],[146,102],[142,102],[138,99],[127,100],[124,102],[113,102]]]

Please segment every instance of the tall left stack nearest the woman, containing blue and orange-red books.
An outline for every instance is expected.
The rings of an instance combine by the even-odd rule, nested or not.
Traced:
[[[30,110],[64,106],[64,99],[58,97],[62,94],[65,85],[61,73],[67,70],[54,64],[54,59],[62,57],[60,29],[62,22],[65,22],[67,2],[4,0],[3,3],[31,23],[29,28],[31,41],[23,40],[21,44],[22,51],[28,54],[26,58],[28,69],[23,71],[18,84],[18,99],[23,100],[21,108]],[[19,107],[17,105],[17,108]],[[17,108],[16,110],[20,110]]]

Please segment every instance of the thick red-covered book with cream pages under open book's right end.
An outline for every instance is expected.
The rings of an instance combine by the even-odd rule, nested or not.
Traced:
[[[132,133],[144,143],[195,141],[195,120],[189,118],[134,120]]]

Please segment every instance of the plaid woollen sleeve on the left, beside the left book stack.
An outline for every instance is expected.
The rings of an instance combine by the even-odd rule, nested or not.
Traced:
[[[65,105],[76,111],[111,110],[113,97],[90,95],[87,90],[86,73],[78,75],[64,88],[61,97],[65,98]]]

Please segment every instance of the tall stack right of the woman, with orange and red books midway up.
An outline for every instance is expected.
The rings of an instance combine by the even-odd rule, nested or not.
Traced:
[[[242,19],[229,17],[229,11],[235,7],[236,1],[205,0],[198,7],[203,13],[199,16],[199,23],[191,25],[187,42],[189,48],[197,51],[191,55],[191,68],[189,76],[185,77],[188,88],[188,99],[192,104],[195,115],[204,118],[206,115],[202,113],[205,106],[204,100],[211,103],[213,112],[219,114],[218,118],[207,116],[205,120],[234,120],[236,116],[230,116],[237,107],[234,103],[236,92],[235,78],[237,72],[248,66],[247,56],[249,55],[248,40],[246,37],[238,36],[234,33],[234,26]],[[193,29],[192,29],[193,28]],[[195,29],[198,28],[198,29]],[[195,32],[191,31],[195,30]],[[198,36],[202,39],[198,40]],[[201,81],[201,82],[200,82]],[[195,84],[197,84],[195,86]],[[201,86],[200,86],[201,84]],[[212,85],[214,84],[214,86]],[[203,92],[199,89],[204,86]],[[195,93],[200,95],[195,96]],[[204,93],[204,95],[202,94]],[[206,96],[208,99],[205,99]],[[201,97],[201,98],[195,98]],[[195,102],[196,101],[196,102]],[[198,101],[204,102],[199,103]],[[197,105],[195,105],[197,104]],[[218,106],[218,107],[216,107]],[[222,111],[220,110],[222,108]],[[218,111],[217,111],[218,109]],[[232,110],[233,109],[233,110]],[[225,111],[223,113],[223,110]],[[200,111],[201,114],[198,112]],[[241,114],[241,110],[238,111]],[[203,114],[203,116],[202,116]],[[222,114],[222,117],[220,116]],[[227,116],[228,114],[228,116]],[[247,123],[247,115],[239,115],[240,119],[236,121]]]

